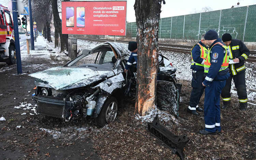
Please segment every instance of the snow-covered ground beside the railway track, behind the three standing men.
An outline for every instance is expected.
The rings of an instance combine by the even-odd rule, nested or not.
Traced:
[[[168,51],[159,51],[159,53],[166,56],[170,62],[172,62],[173,67],[177,68],[176,77],[178,79],[186,79],[191,80],[191,56],[189,54],[180,54],[180,53],[173,53]],[[246,87],[256,89],[256,63],[245,62],[246,71],[245,71],[245,79],[246,79]],[[237,91],[235,89],[234,82],[232,80],[231,86],[231,94],[234,97],[237,96]],[[255,100],[256,93],[250,90],[247,90],[248,100]]]

